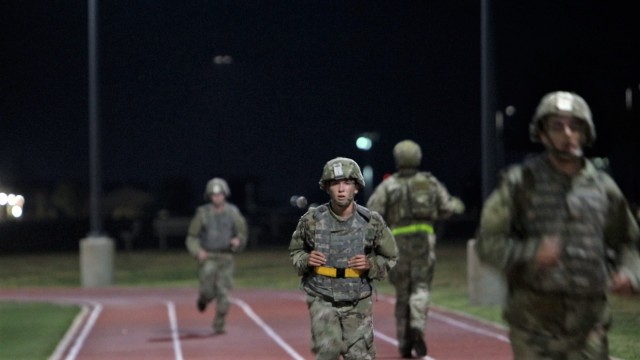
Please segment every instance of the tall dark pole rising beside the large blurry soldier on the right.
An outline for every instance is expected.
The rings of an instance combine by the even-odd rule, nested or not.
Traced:
[[[480,107],[482,134],[482,198],[495,186],[496,179],[496,125],[495,83],[493,72],[493,44],[491,29],[491,1],[481,0],[480,11]]]

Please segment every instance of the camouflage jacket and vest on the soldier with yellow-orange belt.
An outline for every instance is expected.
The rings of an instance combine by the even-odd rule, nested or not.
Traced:
[[[363,206],[357,205],[357,211],[344,221],[339,220],[329,208],[328,204],[320,205],[309,210],[300,218],[289,244],[289,254],[294,268],[302,277],[302,285],[305,291],[311,295],[322,295],[334,301],[357,300],[370,295],[371,280],[386,278],[388,271],[395,265],[398,249],[396,242],[380,214],[369,211]],[[324,224],[324,225],[323,225]],[[344,226],[350,226],[346,229]],[[339,234],[334,229],[341,229]],[[354,236],[355,235],[355,236]],[[348,247],[358,249],[348,249]],[[363,281],[366,288],[361,288],[359,295],[343,294],[350,292],[344,288],[344,283],[353,282],[352,279],[328,279],[322,286],[332,286],[333,289],[318,289],[317,279],[322,275],[315,274],[307,265],[309,253],[318,250],[328,255],[327,266],[346,267],[348,256],[340,256],[337,252],[355,254],[364,252],[369,258],[369,267],[366,276],[356,281]],[[327,254],[327,252],[329,254]],[[349,255],[350,256],[350,255]],[[333,259],[332,259],[333,258]],[[330,281],[330,282],[329,282]],[[342,283],[342,284],[341,284]],[[351,285],[349,285],[351,286]],[[356,296],[356,298],[353,298]],[[351,298],[350,298],[351,297]]]

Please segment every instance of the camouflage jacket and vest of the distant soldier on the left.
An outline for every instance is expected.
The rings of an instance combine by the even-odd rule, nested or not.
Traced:
[[[247,245],[248,235],[247,221],[234,204],[225,203],[220,213],[214,211],[213,204],[204,204],[196,209],[191,219],[186,246],[193,256],[201,249],[209,252],[238,252]],[[232,249],[229,240],[234,237],[240,239],[240,245]]]

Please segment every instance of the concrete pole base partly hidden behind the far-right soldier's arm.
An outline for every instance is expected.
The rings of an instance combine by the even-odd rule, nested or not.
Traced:
[[[475,239],[467,242],[467,285],[471,305],[503,305],[507,293],[504,276],[495,268],[480,262]]]

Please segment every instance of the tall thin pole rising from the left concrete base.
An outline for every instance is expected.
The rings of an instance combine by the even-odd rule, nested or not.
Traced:
[[[98,0],[88,3],[90,234],[102,233],[98,104]]]

